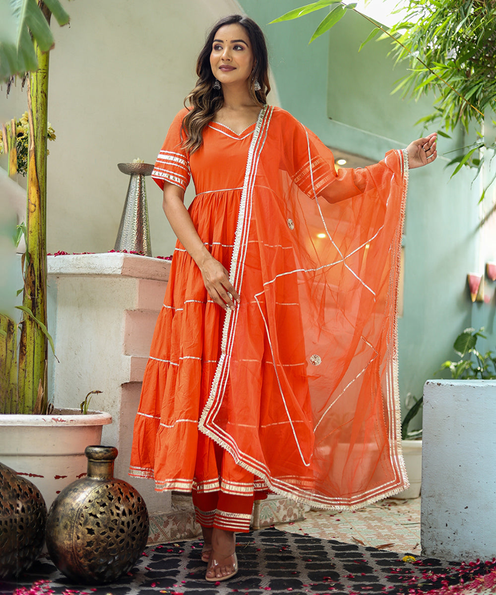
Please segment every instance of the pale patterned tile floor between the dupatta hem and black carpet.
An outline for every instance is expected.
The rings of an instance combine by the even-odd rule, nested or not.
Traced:
[[[382,500],[357,511],[309,511],[278,529],[420,555],[420,498]]]

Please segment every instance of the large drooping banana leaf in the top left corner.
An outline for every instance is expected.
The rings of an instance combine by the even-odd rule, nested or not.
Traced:
[[[44,0],[58,24],[69,22],[59,0]],[[0,83],[13,76],[38,68],[33,39],[43,52],[54,45],[54,37],[36,0],[8,0],[1,2],[0,12]]]

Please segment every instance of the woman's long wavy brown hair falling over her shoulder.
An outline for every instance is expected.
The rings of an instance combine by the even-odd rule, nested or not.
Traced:
[[[185,99],[185,107],[189,108],[182,122],[181,133],[184,133],[183,146],[190,154],[199,149],[203,142],[202,131],[211,122],[217,110],[222,107],[224,98],[222,89],[214,89],[216,81],[210,67],[210,53],[217,31],[224,25],[238,23],[248,33],[251,51],[253,52],[254,66],[249,81],[249,95],[262,108],[266,104],[266,96],[270,91],[269,84],[269,58],[267,45],[260,27],[251,18],[240,14],[233,14],[221,18],[212,27],[205,45],[196,61],[196,74],[198,80],[195,88]],[[255,91],[255,81],[260,83],[260,90]]]

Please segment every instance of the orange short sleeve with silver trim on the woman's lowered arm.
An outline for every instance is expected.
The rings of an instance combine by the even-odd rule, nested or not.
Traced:
[[[191,172],[188,154],[181,146],[181,124],[187,113],[188,110],[185,108],[176,115],[155,161],[152,179],[157,182],[161,190],[164,189],[166,182],[179,186],[183,190],[186,190],[189,184]]]

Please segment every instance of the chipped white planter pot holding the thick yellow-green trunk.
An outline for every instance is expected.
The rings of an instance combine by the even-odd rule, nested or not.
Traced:
[[[107,413],[58,409],[51,415],[0,415],[0,461],[32,481],[50,508],[57,494],[86,475],[85,448],[100,444]]]

